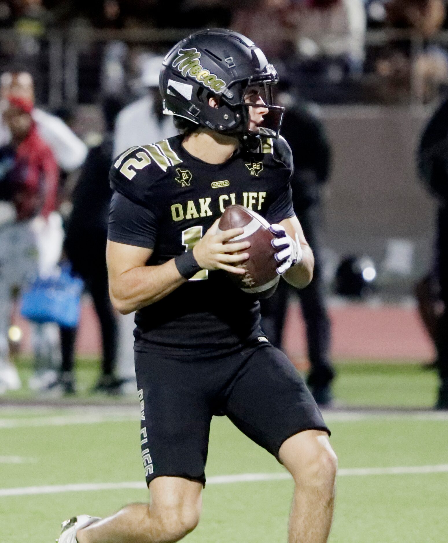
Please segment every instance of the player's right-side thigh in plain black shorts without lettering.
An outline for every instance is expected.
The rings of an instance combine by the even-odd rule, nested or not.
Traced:
[[[226,414],[277,459],[292,435],[306,430],[329,433],[299,372],[272,345],[255,349],[248,358],[229,394]]]

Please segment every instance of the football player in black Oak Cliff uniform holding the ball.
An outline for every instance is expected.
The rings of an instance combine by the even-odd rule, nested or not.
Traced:
[[[107,260],[118,311],[137,310],[135,365],[149,504],[106,519],[82,515],[59,543],[178,541],[199,521],[213,415],[226,415],[295,481],[289,542],[330,532],[336,456],[298,372],[269,344],[259,303],[223,270],[248,258],[243,229],[217,231],[243,204],[272,224],[279,274],[312,279],[313,255],[291,203],[291,151],[272,105],[275,68],[241,34],[202,30],[166,55],[165,113],[180,135],[134,146],[113,162]],[[277,114],[273,130],[264,117]]]

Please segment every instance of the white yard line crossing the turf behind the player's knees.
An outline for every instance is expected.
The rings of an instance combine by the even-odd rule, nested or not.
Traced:
[[[339,477],[367,475],[417,475],[425,473],[447,473],[448,464],[434,466],[396,466],[392,468],[345,468],[338,471]],[[290,479],[289,473],[240,473],[239,475],[216,475],[207,478],[209,484],[247,483],[257,481],[283,481]],[[2,488],[0,497],[59,494],[62,492],[88,492],[98,490],[146,489],[143,481],[128,483],[81,483],[47,485],[43,487]]]

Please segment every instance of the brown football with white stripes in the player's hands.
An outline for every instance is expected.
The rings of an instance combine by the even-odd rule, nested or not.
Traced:
[[[268,230],[269,226],[266,219],[242,205],[226,207],[218,223],[218,228],[222,231],[244,228],[244,233],[228,243],[241,242],[243,239],[250,242],[249,249],[244,250],[249,253],[249,259],[237,264],[237,267],[244,268],[246,273],[237,275],[228,272],[227,275],[242,291],[256,294],[259,298],[272,294],[280,279],[274,258],[275,249],[271,244],[274,235]]]

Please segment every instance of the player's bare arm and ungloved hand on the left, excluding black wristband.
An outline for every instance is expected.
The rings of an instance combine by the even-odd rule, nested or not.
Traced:
[[[216,233],[218,220],[194,247],[193,255],[200,269],[223,269],[242,274],[244,270],[232,264],[249,258],[244,251],[249,242],[224,245],[243,232],[242,228]],[[152,249],[108,240],[106,260],[109,273],[109,294],[113,306],[123,314],[131,313],[165,298],[187,281],[176,267],[174,258],[160,266],[147,266]]]

